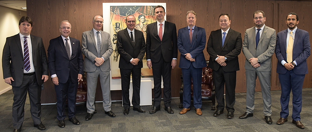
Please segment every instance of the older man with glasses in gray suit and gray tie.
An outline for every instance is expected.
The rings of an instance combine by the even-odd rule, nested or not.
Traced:
[[[98,77],[103,96],[103,108],[105,114],[115,117],[111,111],[112,100],[110,97],[110,55],[113,52],[110,34],[101,31],[103,17],[95,16],[92,20],[93,29],[82,33],[81,47],[85,55],[84,71],[87,77],[87,116],[85,120],[92,118],[95,110],[95,91]]]

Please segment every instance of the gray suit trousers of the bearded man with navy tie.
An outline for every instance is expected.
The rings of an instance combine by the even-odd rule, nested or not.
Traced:
[[[257,76],[261,85],[264,116],[271,116],[271,71],[260,72],[257,70],[246,69],[246,112],[253,113],[253,110],[255,109],[255,88]]]

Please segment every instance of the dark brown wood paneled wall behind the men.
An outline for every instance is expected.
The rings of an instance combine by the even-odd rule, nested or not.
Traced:
[[[309,26],[312,20],[312,1],[269,1],[269,0],[27,0],[27,15],[32,18],[34,25],[32,34],[42,37],[45,48],[49,46],[49,40],[60,35],[59,23],[69,20],[72,25],[71,37],[81,40],[82,32],[92,29],[91,20],[95,15],[102,15],[103,2],[166,2],[167,21],[176,24],[177,29],[187,26],[186,12],[193,10],[197,13],[197,23],[207,32],[207,40],[210,32],[219,29],[218,17],[221,13],[228,13],[231,17],[231,28],[242,34],[245,30],[254,26],[253,12],[262,10],[265,12],[266,25],[279,32],[287,28],[286,15],[295,12],[299,15],[298,28],[312,33]],[[311,41],[312,39],[310,39]],[[204,50],[208,60],[209,55]],[[178,57],[179,62],[179,57]],[[306,75],[304,88],[312,86],[311,57],[308,58],[309,74]],[[245,56],[239,55],[240,71],[237,71],[236,93],[246,92]],[[276,73],[277,59],[272,56],[271,90],[280,89],[278,74]],[[181,69],[172,70],[171,86],[172,97],[179,96],[181,86]],[[54,85],[49,79],[44,84],[41,94],[41,103],[56,102]],[[99,85],[98,85],[99,88]],[[256,91],[261,91],[257,80]],[[96,100],[101,100],[101,91],[98,89]],[[52,99],[51,99],[52,98]],[[53,100],[54,98],[54,100]],[[121,100],[120,91],[112,91],[112,100]]]

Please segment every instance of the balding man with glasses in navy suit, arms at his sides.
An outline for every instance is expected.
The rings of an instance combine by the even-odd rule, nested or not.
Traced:
[[[60,24],[61,36],[51,39],[48,48],[48,64],[52,82],[56,92],[58,126],[65,127],[64,119],[66,97],[68,102],[68,118],[79,125],[76,114],[76,93],[78,82],[83,75],[83,58],[80,41],[69,37],[71,24],[63,20]]]

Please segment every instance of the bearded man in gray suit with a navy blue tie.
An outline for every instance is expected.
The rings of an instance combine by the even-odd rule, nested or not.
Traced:
[[[271,56],[276,45],[276,31],[264,23],[266,17],[263,11],[256,11],[253,17],[255,26],[245,32],[242,51],[246,57],[246,112],[240,119],[253,116],[255,108],[255,87],[257,76],[260,80],[263,112],[267,124],[271,119]]]

